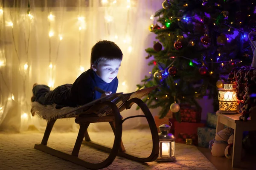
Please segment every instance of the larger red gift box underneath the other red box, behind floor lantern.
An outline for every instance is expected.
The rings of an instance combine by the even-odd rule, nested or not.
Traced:
[[[204,127],[205,123],[175,122],[175,142],[186,143],[186,138],[192,139],[193,144],[198,145],[198,127]]]

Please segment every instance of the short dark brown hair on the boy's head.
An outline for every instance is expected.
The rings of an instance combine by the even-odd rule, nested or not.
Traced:
[[[91,52],[91,64],[98,65],[99,61],[120,59],[122,60],[122,51],[115,42],[102,40],[97,42]]]

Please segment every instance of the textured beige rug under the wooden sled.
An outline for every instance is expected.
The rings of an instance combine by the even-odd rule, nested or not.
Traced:
[[[108,146],[113,144],[113,133],[90,132],[91,140]],[[77,133],[52,133],[48,145],[57,150],[71,153]],[[34,149],[43,133],[0,133],[0,170],[81,170],[79,165],[51,156]],[[151,133],[148,129],[123,131],[122,140],[129,153],[148,156],[151,153]],[[176,144],[176,161],[140,163],[117,156],[104,170],[215,170],[215,167],[197,149],[186,144]],[[79,158],[93,163],[107,158],[108,154],[82,145]]]

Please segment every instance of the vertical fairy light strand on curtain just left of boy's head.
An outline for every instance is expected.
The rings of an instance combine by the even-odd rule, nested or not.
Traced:
[[[78,26],[79,26],[79,50],[78,50],[78,57],[79,57],[79,71],[77,77],[79,77],[84,72],[84,66],[81,64],[81,34],[82,31],[86,29],[86,22],[85,17],[81,15],[81,0],[79,0],[79,14],[78,14]]]

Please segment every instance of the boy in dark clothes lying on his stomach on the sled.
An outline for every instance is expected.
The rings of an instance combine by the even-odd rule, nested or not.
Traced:
[[[111,41],[97,42],[91,51],[91,68],[82,73],[73,84],[58,86],[53,91],[47,85],[33,85],[32,102],[42,105],[57,104],[55,108],[77,107],[100,97],[116,93],[118,79],[116,77],[122,61],[122,51]],[[99,87],[104,94],[95,91]],[[33,108],[32,116],[35,115]]]

